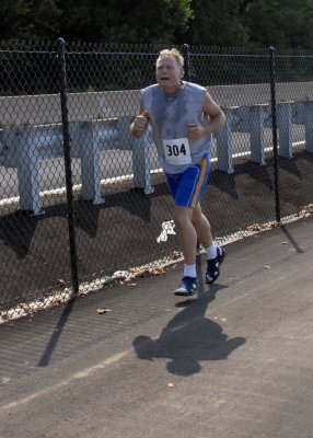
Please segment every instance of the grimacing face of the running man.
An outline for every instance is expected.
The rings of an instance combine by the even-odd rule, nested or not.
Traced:
[[[181,85],[184,71],[173,56],[156,60],[156,81],[165,90],[176,90]]]

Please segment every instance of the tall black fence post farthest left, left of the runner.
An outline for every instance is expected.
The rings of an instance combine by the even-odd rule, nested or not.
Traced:
[[[78,257],[77,257],[76,229],[74,229],[74,208],[73,208],[72,170],[71,170],[71,145],[70,145],[70,136],[69,136],[68,100],[67,100],[67,69],[66,69],[66,54],[65,54],[63,38],[58,39],[58,60],[59,60],[59,74],[60,74],[60,100],[61,100],[63,155],[65,155],[67,204],[68,204],[68,226],[69,226],[69,241],[70,241],[71,275],[72,275],[72,295],[77,296],[79,292]]]

